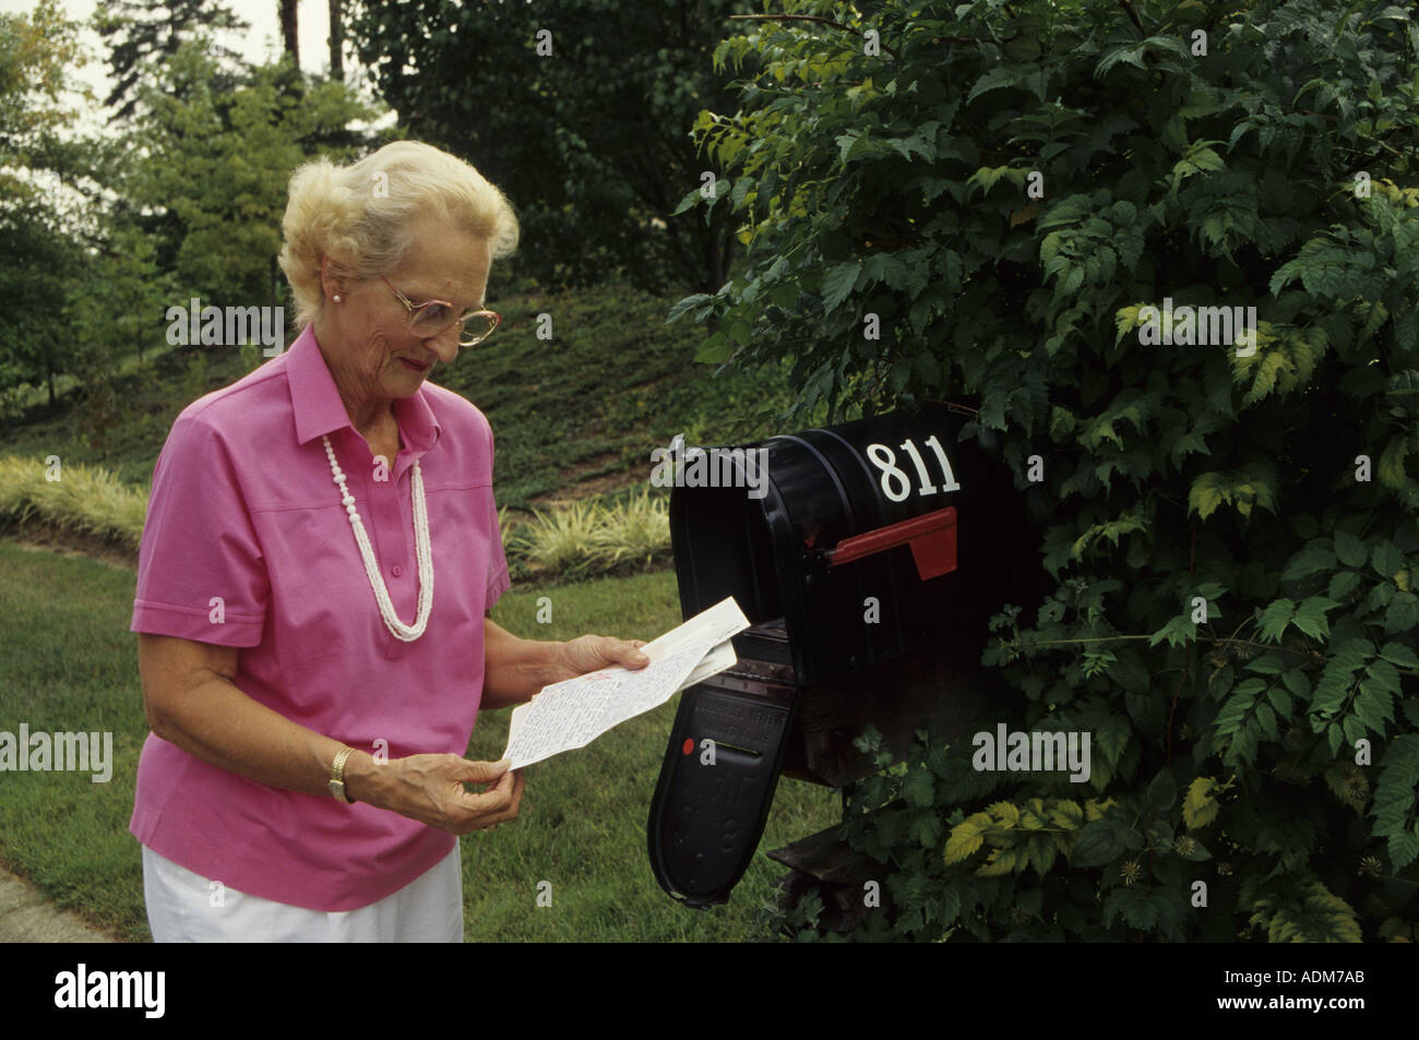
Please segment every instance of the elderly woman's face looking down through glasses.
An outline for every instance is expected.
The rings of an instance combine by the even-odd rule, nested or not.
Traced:
[[[416,305],[443,299],[463,314],[482,306],[490,262],[485,240],[423,217],[414,223],[407,258],[385,278]],[[431,339],[410,332],[409,309],[377,275],[346,282],[343,291],[332,288],[326,277],[328,301],[333,292],[341,294],[341,302],[328,302],[329,329],[316,333],[331,349],[326,360],[348,404],[409,397],[434,363],[451,365],[458,356],[458,325]]]

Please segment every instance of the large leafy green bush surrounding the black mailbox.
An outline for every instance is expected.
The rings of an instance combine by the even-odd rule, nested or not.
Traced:
[[[978,400],[1053,576],[992,621],[1026,709],[979,728],[1093,742],[1087,783],[932,739],[857,785],[888,864],[858,935],[1413,938],[1408,11],[783,10],[817,21],[717,51],[741,111],[701,114],[725,176],[681,204],[732,207],[748,268],[675,315],[719,321],[707,360],[795,358],[805,407]],[[1254,306],[1254,345],[1148,321],[1166,299]]]

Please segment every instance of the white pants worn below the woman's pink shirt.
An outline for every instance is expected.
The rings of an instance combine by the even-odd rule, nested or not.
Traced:
[[[143,846],[143,898],[153,942],[463,942],[458,846],[397,892],[338,912],[219,887]]]

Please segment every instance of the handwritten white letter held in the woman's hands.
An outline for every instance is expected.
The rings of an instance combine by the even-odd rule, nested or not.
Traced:
[[[514,769],[585,748],[607,729],[658,708],[687,685],[724,671],[738,658],[729,637],[749,627],[732,597],[651,640],[637,671],[614,665],[542,687],[512,711],[502,758]]]

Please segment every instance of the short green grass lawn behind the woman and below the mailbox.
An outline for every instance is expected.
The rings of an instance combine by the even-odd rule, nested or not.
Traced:
[[[142,864],[128,833],[138,753],[148,735],[136,637],[128,631],[135,572],[0,541],[0,731],[112,731],[114,778],[0,773],[0,863],[67,907],[146,941]],[[552,599],[552,624],[535,620]],[[670,572],[504,594],[494,619],[529,638],[586,631],[651,638],[680,621]],[[678,698],[677,698],[678,699]],[[650,873],[646,816],[675,699],[589,748],[528,770],[522,813],[491,834],[461,839],[468,941],[745,941],[765,936],[756,909],[783,873],[762,854],[727,907],[697,912]],[[495,759],[507,712],[478,718],[470,756]],[[782,780],[762,848],[839,819],[826,787]],[[536,905],[539,881],[552,907]]]

